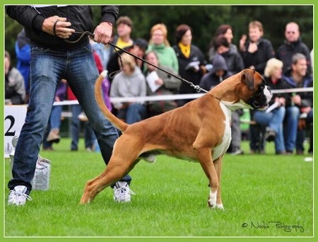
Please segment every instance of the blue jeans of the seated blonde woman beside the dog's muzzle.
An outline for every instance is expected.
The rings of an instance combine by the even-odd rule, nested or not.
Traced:
[[[283,120],[285,117],[285,107],[281,106],[269,113],[256,110],[254,113],[254,120],[261,125],[269,126],[276,132],[275,137],[275,151],[281,153],[285,151],[285,143],[283,137]]]

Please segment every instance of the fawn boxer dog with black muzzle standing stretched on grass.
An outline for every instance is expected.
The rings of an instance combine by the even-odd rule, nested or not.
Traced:
[[[106,108],[101,91],[104,77],[102,73],[95,83],[95,98],[102,113],[122,131],[122,136],[114,144],[105,171],[86,183],[81,204],[92,202],[98,192],[124,177],[140,159],[153,162],[155,154],[166,154],[199,162],[210,187],[208,206],[223,209],[220,175],[223,156],[231,141],[232,111],[268,107],[272,94],[263,77],[257,71],[245,69],[180,108],[132,125]]]

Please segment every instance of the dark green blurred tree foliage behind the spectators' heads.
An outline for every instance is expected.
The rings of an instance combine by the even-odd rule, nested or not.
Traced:
[[[92,6],[95,25],[100,21],[100,7]],[[120,16],[129,16],[134,23],[132,38],[149,39],[151,27],[165,23],[170,45],[175,44],[177,25],[186,23],[193,29],[192,43],[207,54],[208,46],[216,28],[220,24],[232,25],[235,45],[242,34],[248,35],[250,21],[260,21],[264,28],[264,38],[271,40],[274,50],[284,40],[286,23],[295,21],[300,25],[302,41],[313,48],[313,5],[255,5],[255,6],[119,6]],[[5,47],[14,60],[14,42],[21,26],[8,16],[5,17]]]

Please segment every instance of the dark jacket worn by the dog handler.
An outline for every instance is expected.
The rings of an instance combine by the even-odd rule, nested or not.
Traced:
[[[101,22],[110,22],[113,24],[119,14],[118,6],[102,6],[101,8]],[[86,42],[88,43],[87,36],[76,43],[70,44],[65,42],[64,39],[42,31],[42,24],[45,18],[51,16],[67,18],[67,21],[72,24],[69,28],[73,28],[76,32],[83,33],[84,31],[93,31],[93,16],[90,6],[6,6],[6,13],[10,18],[13,18],[25,27],[25,33],[27,37],[30,38],[31,45],[33,44],[40,47],[70,50]],[[73,34],[68,40],[74,41],[80,36],[81,35]]]

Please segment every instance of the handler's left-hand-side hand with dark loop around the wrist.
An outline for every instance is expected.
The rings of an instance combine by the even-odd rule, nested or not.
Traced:
[[[55,24],[55,33],[54,33],[54,23]],[[68,28],[71,26],[70,22],[66,21],[66,18],[61,18],[59,16],[52,16],[45,18],[45,21],[42,25],[42,30],[50,35],[57,35],[59,38],[67,39],[71,36],[75,30]]]

